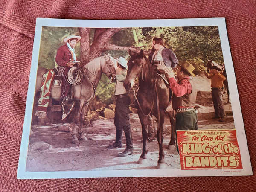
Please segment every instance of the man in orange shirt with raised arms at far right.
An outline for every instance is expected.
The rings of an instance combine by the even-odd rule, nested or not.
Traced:
[[[214,113],[216,119],[220,118],[221,122],[226,122],[226,113],[224,111],[223,106],[223,81],[226,79],[221,73],[219,73],[221,69],[217,66],[213,66],[211,68],[211,73],[204,72],[205,76],[208,79],[212,80],[211,87],[212,87],[212,101],[214,106]]]

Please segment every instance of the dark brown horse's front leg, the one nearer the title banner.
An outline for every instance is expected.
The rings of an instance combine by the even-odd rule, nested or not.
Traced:
[[[158,119],[159,121],[159,119]],[[164,123],[164,112],[160,111],[160,128],[157,130],[157,140],[159,145],[159,159],[157,161],[157,169],[165,168],[164,151],[163,151],[163,123]],[[161,133],[161,138],[159,137]]]

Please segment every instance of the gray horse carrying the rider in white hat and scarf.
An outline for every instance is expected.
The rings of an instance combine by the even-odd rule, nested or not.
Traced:
[[[93,59],[81,68],[83,79],[80,84],[73,85],[71,87],[71,96],[76,100],[74,106],[74,119],[72,127],[72,143],[79,144],[79,140],[87,140],[85,137],[82,127],[85,120],[85,114],[89,102],[95,97],[96,87],[99,84],[102,73],[108,76],[109,79],[115,76],[115,64],[116,60],[109,55],[104,55]],[[35,93],[38,93],[41,88],[41,82],[43,81],[43,74],[47,72],[47,69],[38,69],[37,82]],[[60,88],[52,86],[51,98],[60,101]],[[47,122],[49,119],[41,119],[41,122]],[[78,128],[78,129],[77,129]],[[78,136],[78,137],[77,137]],[[79,139],[79,140],[78,140]]]

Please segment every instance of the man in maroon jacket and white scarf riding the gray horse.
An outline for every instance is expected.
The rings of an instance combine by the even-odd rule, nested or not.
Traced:
[[[58,74],[63,78],[61,86],[61,102],[64,119],[73,109],[74,101],[70,100],[70,83],[67,81],[67,73],[74,66],[76,60],[75,46],[81,39],[80,36],[70,35],[64,38],[64,45],[58,48],[55,61],[58,64]],[[70,101],[69,101],[70,100]],[[64,105],[65,103],[65,105]]]

